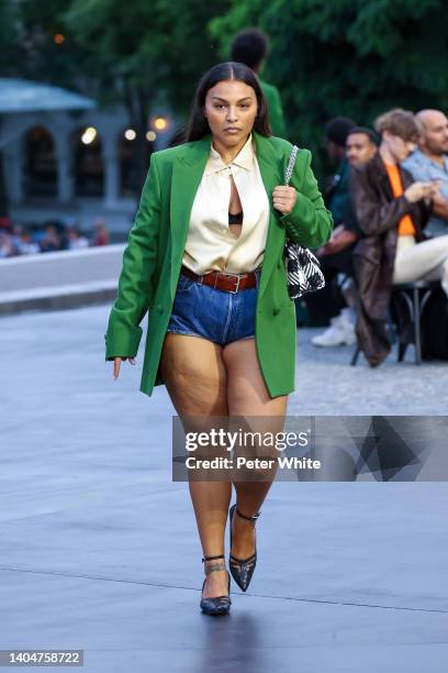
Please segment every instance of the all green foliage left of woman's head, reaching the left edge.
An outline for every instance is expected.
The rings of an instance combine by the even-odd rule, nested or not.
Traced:
[[[217,59],[206,26],[228,8],[228,0],[133,0],[128,5],[121,0],[0,0],[0,36],[8,38],[0,65],[10,64],[8,75],[77,89],[103,108],[124,103],[137,131],[139,190],[148,164],[148,115],[159,101],[181,119],[187,115],[199,76]],[[21,58],[12,57],[13,23]]]

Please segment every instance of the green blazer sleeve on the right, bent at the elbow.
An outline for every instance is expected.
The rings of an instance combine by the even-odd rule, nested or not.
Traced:
[[[298,153],[290,185],[298,190],[298,197],[291,212],[280,217],[289,238],[304,247],[325,245],[332,235],[333,217],[311,169],[310,150]]]

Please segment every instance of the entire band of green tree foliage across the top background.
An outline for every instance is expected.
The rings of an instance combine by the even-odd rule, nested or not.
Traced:
[[[121,101],[143,128],[157,100],[188,112],[200,75],[249,25],[271,40],[264,78],[280,89],[290,139],[391,107],[448,109],[447,0],[0,0],[0,66]],[[18,27],[19,26],[19,27]],[[14,33],[24,57],[18,58]],[[56,44],[54,35],[65,41]]]

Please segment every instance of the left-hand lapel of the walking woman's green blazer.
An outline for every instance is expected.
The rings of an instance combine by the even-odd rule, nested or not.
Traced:
[[[170,194],[171,297],[176,294],[191,209],[209,158],[210,144],[210,135],[201,139],[186,147],[186,153],[178,156],[172,165]]]

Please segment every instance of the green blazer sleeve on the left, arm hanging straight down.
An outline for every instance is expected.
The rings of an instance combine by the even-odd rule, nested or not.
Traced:
[[[160,212],[160,179],[154,154],[123,253],[117,297],[104,334],[107,361],[117,356],[135,357],[138,351],[142,339],[139,323],[148,310],[154,291]]]

